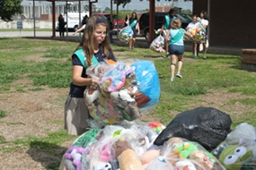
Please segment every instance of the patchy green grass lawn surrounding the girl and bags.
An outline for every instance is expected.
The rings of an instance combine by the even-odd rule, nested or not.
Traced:
[[[43,94],[47,89],[68,92],[72,72],[71,55],[78,43],[26,38],[0,38],[0,42],[0,100],[4,101],[10,94],[30,95],[37,91]],[[213,106],[231,115],[232,128],[243,122],[256,126],[256,72],[239,70],[240,56],[208,54],[207,60],[203,60],[194,59],[186,52],[181,70],[183,78],[171,82],[169,59],[146,58],[146,55],[158,54],[145,48],[136,48],[130,52],[127,50],[128,47],[113,46],[118,60],[153,60],[159,74],[159,104],[152,113],[142,118],[143,121],[159,121],[166,125],[183,111],[198,106]],[[56,103],[49,108],[64,107],[66,95],[60,94]],[[5,124],[3,120],[13,115],[11,109],[4,108],[0,107],[0,128]],[[22,121],[12,122],[13,126],[22,124]],[[51,125],[63,127],[63,124],[61,118],[48,122],[49,129]],[[21,149],[40,149],[44,154],[58,159],[42,164],[44,168],[57,169],[66,151],[60,146],[76,137],[66,134],[62,128],[56,132],[50,132],[49,129],[45,131],[46,135],[31,133],[13,140],[7,140],[0,134],[0,154],[16,153]],[[57,149],[61,151],[54,151]]]

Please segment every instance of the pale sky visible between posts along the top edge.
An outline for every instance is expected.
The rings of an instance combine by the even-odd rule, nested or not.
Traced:
[[[31,3],[32,1],[28,1],[28,0],[23,0],[22,4],[27,4],[27,3]],[[39,3],[39,1],[35,1],[35,3]],[[43,3],[48,3],[49,2],[40,2],[41,4]],[[58,2],[58,3],[64,3],[65,2]],[[155,5],[171,5],[172,1],[165,1],[165,0],[160,0],[159,2],[157,2],[155,0]],[[183,10],[185,9],[190,9],[190,11],[192,11],[192,2],[191,1],[187,1],[184,2],[183,0],[179,0],[178,2],[174,3],[174,6],[178,6],[181,7]],[[110,8],[110,0],[98,0],[98,7],[101,8],[101,10],[103,11],[106,7]],[[116,5],[113,4],[113,9],[116,9]],[[119,6],[119,10],[145,10],[145,9],[149,9],[149,1],[143,0],[142,2],[139,0],[131,0],[131,3],[127,4],[125,6],[125,8],[123,8],[121,5]]]

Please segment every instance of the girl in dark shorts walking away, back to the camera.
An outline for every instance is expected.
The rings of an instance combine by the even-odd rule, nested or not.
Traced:
[[[182,67],[182,58],[184,53],[184,34],[187,34],[189,37],[192,37],[189,33],[181,28],[181,20],[175,18],[171,21],[171,30],[168,31],[166,39],[171,37],[169,43],[169,54],[171,55],[171,81],[174,81],[174,71],[176,65],[176,58],[178,56],[178,72],[176,77],[182,78],[181,76],[181,67]]]

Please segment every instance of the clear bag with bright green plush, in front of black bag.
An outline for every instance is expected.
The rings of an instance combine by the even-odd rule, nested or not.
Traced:
[[[173,137],[164,142],[158,153],[147,158],[146,170],[225,170],[198,142]]]

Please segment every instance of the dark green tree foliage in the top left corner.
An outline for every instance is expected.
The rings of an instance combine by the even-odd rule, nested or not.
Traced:
[[[4,21],[13,21],[16,13],[22,13],[22,0],[0,0],[0,17]]]

